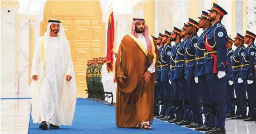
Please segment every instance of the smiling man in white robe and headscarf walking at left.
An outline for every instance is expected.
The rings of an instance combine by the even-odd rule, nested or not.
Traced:
[[[48,21],[47,31],[34,48],[31,84],[33,123],[40,129],[58,129],[72,125],[77,85],[70,46],[63,25],[57,19]]]

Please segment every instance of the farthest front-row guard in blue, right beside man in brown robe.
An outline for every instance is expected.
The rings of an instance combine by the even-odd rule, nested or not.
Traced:
[[[161,82],[161,53],[163,51],[163,42],[162,42],[163,34],[159,33],[158,38],[156,40],[156,44],[158,46],[158,58],[157,58],[157,69],[156,69],[156,88],[158,88],[160,98],[164,98],[164,88],[163,83]],[[156,118],[163,118],[165,116],[165,102],[161,101],[156,106],[162,105],[160,115],[156,116]]]

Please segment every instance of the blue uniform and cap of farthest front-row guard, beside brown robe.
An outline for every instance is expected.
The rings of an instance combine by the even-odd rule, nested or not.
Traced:
[[[159,33],[158,39],[162,39],[163,35]],[[156,86],[155,86],[155,91],[159,91],[158,97],[164,98],[164,88],[163,88],[163,83],[161,82],[161,53],[163,51],[163,46],[158,48],[158,58],[157,58],[157,68],[156,68]],[[164,102],[161,101],[161,104],[163,105]],[[164,117],[165,115],[165,107],[161,108],[160,117]]]

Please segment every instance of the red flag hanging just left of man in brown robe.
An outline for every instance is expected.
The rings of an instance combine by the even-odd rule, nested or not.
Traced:
[[[113,71],[113,48],[114,48],[114,16],[113,12],[109,15],[108,18],[108,33],[107,33],[107,57],[106,64],[107,70]]]

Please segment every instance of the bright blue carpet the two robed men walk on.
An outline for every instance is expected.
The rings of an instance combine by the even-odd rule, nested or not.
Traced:
[[[78,98],[73,125],[60,126],[60,129],[56,130],[41,130],[39,129],[39,124],[33,123],[32,117],[30,116],[28,133],[201,133],[195,130],[187,129],[182,126],[170,124],[156,119],[154,119],[154,122],[151,126],[153,130],[117,128],[115,124],[115,107],[105,105],[96,101],[91,101],[88,99]]]

